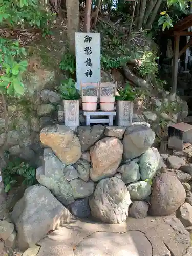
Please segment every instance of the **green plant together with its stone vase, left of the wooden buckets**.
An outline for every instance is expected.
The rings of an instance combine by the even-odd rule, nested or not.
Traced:
[[[65,125],[75,130],[79,126],[79,99],[80,94],[73,79],[69,78],[59,87],[60,97],[63,100]]]

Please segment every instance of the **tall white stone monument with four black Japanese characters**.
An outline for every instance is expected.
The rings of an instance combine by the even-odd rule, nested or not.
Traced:
[[[100,82],[100,33],[75,33],[76,87],[80,82]]]

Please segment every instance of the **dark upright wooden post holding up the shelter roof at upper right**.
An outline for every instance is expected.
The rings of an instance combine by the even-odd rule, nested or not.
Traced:
[[[176,95],[177,91],[177,72],[178,72],[178,59],[179,59],[179,39],[180,35],[175,35],[174,38],[174,56],[173,56],[173,67],[172,67],[172,95]]]

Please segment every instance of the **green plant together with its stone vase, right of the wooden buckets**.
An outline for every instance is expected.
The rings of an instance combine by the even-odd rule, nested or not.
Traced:
[[[133,120],[133,101],[136,93],[132,90],[129,83],[126,83],[124,89],[118,90],[118,96],[115,97],[116,105],[116,123],[118,126],[132,125]]]

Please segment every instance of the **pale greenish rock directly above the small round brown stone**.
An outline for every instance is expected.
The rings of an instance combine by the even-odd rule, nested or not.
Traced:
[[[138,181],[127,186],[131,200],[144,200],[151,194],[151,186],[148,182]]]

